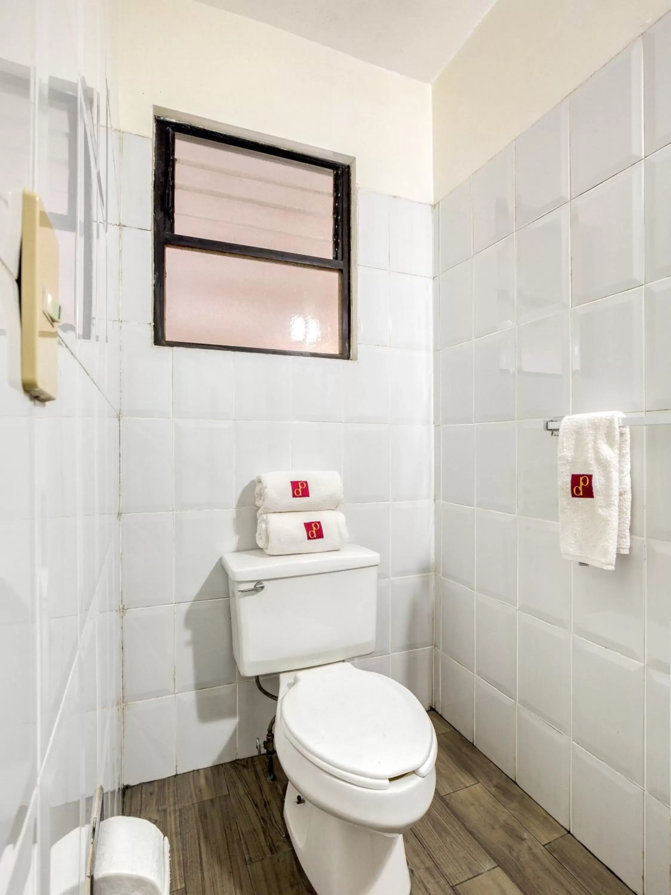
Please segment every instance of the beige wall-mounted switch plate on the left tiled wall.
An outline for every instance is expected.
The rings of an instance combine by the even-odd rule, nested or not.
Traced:
[[[53,401],[58,388],[58,240],[39,195],[23,191],[21,369],[23,390]]]

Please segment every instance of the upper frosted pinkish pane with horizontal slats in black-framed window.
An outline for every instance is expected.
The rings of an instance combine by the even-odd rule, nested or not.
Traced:
[[[333,257],[333,172],[175,137],[175,233]]]

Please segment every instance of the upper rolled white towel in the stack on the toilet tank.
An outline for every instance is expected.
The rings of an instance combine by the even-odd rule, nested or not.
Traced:
[[[256,476],[254,499],[259,514],[337,509],[344,501],[342,479],[323,471],[262,473]]]

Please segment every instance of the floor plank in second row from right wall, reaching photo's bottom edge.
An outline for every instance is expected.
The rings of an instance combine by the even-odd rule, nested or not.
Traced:
[[[481,783],[443,798],[523,895],[588,895],[588,890]]]

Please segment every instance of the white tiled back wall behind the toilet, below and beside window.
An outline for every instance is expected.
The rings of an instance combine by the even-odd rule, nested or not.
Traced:
[[[264,471],[342,473],[350,540],[382,556],[377,648],[360,663],[428,706],[430,207],[358,195],[356,362],[156,347],[151,141],[125,133],[123,159],[125,783],[254,754],[265,734],[274,703],[237,673],[219,564],[256,546]]]

